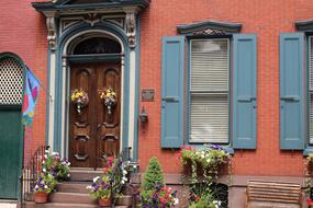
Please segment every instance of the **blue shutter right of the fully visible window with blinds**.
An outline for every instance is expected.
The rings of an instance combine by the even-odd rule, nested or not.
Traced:
[[[232,139],[234,149],[256,149],[257,37],[234,35]]]

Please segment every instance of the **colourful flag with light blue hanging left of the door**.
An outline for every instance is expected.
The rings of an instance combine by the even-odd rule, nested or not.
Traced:
[[[41,82],[26,67],[26,79],[22,108],[22,124],[30,126],[33,123],[35,106],[40,94]]]

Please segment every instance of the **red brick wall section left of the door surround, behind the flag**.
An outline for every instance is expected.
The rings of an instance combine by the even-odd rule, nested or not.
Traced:
[[[10,51],[22,58],[46,85],[47,42],[45,19],[36,12],[31,0],[0,1],[0,53]],[[45,141],[46,94],[41,89],[35,111],[32,139],[25,141],[25,160]]]

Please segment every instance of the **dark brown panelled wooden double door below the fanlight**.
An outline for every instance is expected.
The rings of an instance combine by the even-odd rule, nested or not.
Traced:
[[[70,92],[81,89],[88,105],[80,113],[70,102],[69,160],[71,166],[101,167],[105,157],[120,152],[121,65],[80,63],[70,66]],[[100,92],[111,89],[116,103],[109,113]]]

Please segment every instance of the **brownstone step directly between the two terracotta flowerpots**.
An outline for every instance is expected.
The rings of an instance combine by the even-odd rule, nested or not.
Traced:
[[[97,200],[91,199],[88,194],[81,193],[53,193],[49,196],[52,203],[64,203],[64,204],[89,204],[94,205]]]

